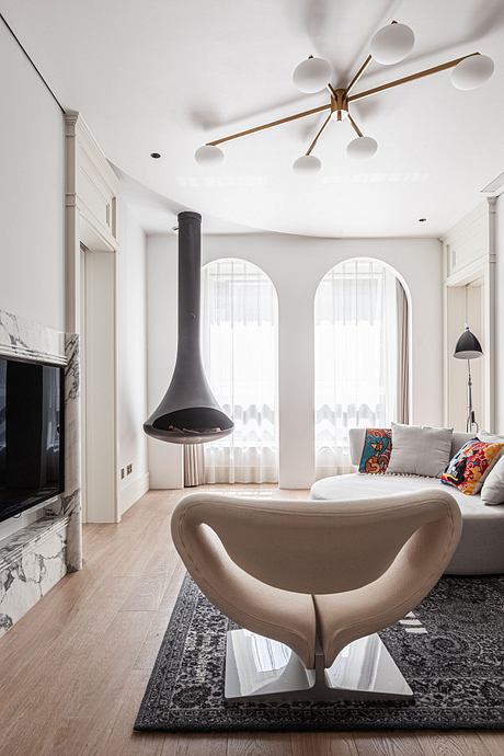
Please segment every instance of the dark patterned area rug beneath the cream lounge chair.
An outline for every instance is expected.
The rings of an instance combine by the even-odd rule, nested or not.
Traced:
[[[233,627],[186,575],[135,730],[504,728],[504,576],[444,577],[413,619],[380,633],[413,689],[408,702],[228,703]]]

